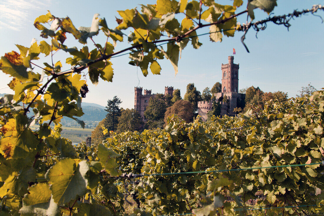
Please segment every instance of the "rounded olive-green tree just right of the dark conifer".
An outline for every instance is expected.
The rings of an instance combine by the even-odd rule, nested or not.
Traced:
[[[117,133],[139,130],[143,125],[141,115],[134,109],[126,109],[118,118]]]

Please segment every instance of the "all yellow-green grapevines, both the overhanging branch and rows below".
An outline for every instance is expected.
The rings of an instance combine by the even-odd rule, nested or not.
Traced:
[[[44,41],[17,45],[20,53],[0,59],[15,92],[0,98],[0,215],[323,215],[324,91],[208,122],[170,116],[164,129],[103,128],[110,137],[90,147],[61,137],[63,117],[85,127],[79,117],[87,79],[112,81],[112,57],[129,54],[144,76],[149,65],[160,74],[157,61],[167,58],[177,73],[187,43],[202,45],[200,28],[209,27],[214,42],[240,32],[248,51],[249,29],[265,30],[267,22],[289,27],[292,18],[323,11],[314,5],[253,21],[253,9],[269,14],[276,0],[249,0],[238,13],[243,1],[229,2],[157,0],[141,11],[118,11],[115,29],[98,14],[91,27],[78,29],[50,12],[36,18]],[[237,23],[240,15],[251,21]],[[99,31],[107,36],[102,45],[93,40]],[[68,47],[68,38],[80,47]],[[130,47],[114,51],[124,38]],[[53,61],[57,52],[70,56],[62,61],[68,66]]]

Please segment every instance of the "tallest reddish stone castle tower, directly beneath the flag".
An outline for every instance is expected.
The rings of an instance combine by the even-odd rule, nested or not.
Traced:
[[[222,64],[222,92],[238,92],[239,64],[234,64],[234,56],[228,56],[228,64]]]

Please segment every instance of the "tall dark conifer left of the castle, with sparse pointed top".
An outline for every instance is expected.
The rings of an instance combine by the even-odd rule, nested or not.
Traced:
[[[106,111],[106,121],[105,127],[110,131],[114,131],[117,129],[118,125],[118,118],[121,115],[121,110],[119,108],[119,104],[121,104],[121,100],[114,96],[112,100],[107,101]]]

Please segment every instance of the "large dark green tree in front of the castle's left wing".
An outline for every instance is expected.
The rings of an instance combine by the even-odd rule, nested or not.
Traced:
[[[151,97],[148,106],[144,112],[144,117],[147,119],[146,128],[162,128],[164,124],[164,114],[167,110],[167,103],[164,94],[156,94]]]

